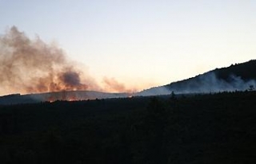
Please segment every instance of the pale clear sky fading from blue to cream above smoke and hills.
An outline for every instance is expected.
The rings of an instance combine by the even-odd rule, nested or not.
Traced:
[[[255,59],[255,10],[253,0],[0,0],[0,34],[15,25],[98,83],[142,90]]]

